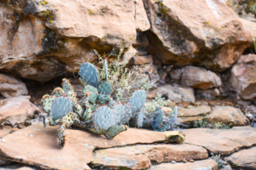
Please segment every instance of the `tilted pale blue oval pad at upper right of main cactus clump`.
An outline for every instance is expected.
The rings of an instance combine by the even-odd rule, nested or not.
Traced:
[[[143,105],[146,103],[146,93],[143,90],[138,90],[134,94],[132,94],[131,99],[129,99],[128,104],[131,105],[131,111],[137,112],[141,111]]]

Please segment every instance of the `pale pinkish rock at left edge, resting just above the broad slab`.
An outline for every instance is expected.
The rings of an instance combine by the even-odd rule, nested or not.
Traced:
[[[26,119],[31,119],[34,111],[39,111],[36,105],[29,101],[30,96],[18,96],[0,101],[0,123],[15,126]]]

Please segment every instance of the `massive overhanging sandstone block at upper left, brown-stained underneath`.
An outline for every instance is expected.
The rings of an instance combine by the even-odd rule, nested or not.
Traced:
[[[92,49],[103,54],[129,48],[137,31],[150,27],[143,0],[8,1],[0,11],[0,70],[38,82],[68,76],[83,61],[94,62]]]

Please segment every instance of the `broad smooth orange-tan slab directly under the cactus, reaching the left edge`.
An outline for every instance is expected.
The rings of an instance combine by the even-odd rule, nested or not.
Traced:
[[[90,169],[96,148],[110,148],[126,144],[164,142],[165,133],[129,128],[114,139],[82,130],[67,129],[67,144],[59,148],[57,127],[44,127],[42,123],[23,128],[0,140],[0,155],[9,161],[33,164],[44,168]]]

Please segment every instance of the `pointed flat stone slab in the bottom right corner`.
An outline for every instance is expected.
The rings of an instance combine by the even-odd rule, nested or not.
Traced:
[[[256,169],[256,147],[240,150],[225,159],[232,161],[236,168]]]

